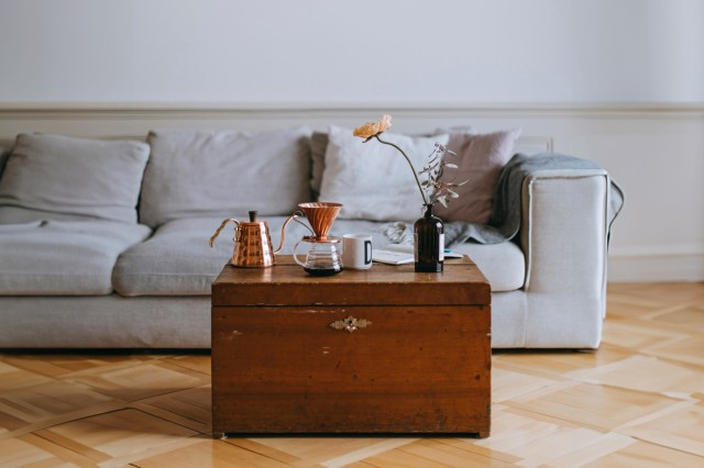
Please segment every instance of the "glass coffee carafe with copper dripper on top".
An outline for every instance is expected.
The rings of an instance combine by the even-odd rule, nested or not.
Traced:
[[[338,216],[340,209],[342,209],[342,204],[319,201],[300,203],[298,208],[308,219],[310,223],[309,230],[312,235],[304,236],[296,243],[294,246],[294,259],[310,275],[331,276],[339,274],[342,271],[342,256],[339,249],[340,238],[329,236],[328,232],[332,227],[332,222]],[[304,244],[308,245],[308,254],[306,255],[306,260],[301,261],[298,257],[298,247]]]

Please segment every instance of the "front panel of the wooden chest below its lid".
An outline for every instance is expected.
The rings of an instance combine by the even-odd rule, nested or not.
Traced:
[[[213,430],[488,435],[488,307],[216,308]],[[371,324],[353,333],[330,323]]]

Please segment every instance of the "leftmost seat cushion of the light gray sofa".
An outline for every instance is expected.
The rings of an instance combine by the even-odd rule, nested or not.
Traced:
[[[150,233],[111,221],[1,224],[0,294],[110,294],[118,256]]]

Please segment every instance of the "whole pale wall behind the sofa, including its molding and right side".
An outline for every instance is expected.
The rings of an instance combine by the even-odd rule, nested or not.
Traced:
[[[475,109],[622,183],[613,279],[704,280],[701,0],[0,0],[0,109]]]

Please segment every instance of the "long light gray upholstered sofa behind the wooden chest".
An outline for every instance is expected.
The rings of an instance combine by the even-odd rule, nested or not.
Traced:
[[[0,158],[0,347],[208,348],[210,283],[233,249],[231,236],[215,248],[209,237],[223,218],[258,210],[278,245],[296,203],[331,192],[324,138],[307,127],[142,142],[19,135]],[[492,345],[595,348],[608,175],[543,170],[519,183],[515,238],[452,246],[492,285]],[[410,225],[343,213],[332,233],[372,233],[380,248]],[[304,234],[292,223],[287,238]]]

